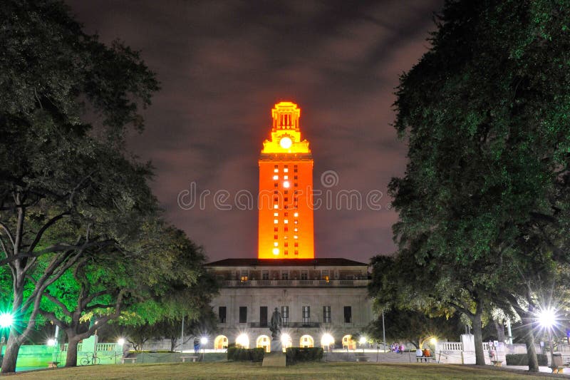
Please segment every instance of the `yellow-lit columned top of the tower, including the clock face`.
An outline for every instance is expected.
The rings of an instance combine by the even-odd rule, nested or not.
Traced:
[[[301,140],[301,108],[290,101],[276,103],[271,109],[271,140],[265,140],[261,153],[311,153],[309,141]]]

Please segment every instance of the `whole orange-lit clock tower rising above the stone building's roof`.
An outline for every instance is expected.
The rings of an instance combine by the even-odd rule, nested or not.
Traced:
[[[314,259],[313,156],[301,140],[301,109],[271,110],[271,139],[259,157],[259,259]]]

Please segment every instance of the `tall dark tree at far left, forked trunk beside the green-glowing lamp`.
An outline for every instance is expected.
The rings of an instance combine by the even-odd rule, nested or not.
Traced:
[[[15,370],[43,292],[97,248],[133,236],[155,200],[145,165],[123,158],[125,129],[142,129],[155,75],[137,52],[81,31],[61,1],[8,0],[0,9],[0,265],[14,287],[2,372]],[[96,115],[97,128],[83,120]],[[61,225],[79,235],[53,240]],[[48,235],[51,245],[46,245]],[[43,274],[24,293],[38,257]]]

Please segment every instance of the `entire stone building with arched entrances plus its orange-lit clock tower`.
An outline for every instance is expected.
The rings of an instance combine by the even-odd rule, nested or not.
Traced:
[[[222,286],[212,300],[220,329],[213,348],[236,343],[269,351],[268,323],[277,308],[285,347],[354,349],[353,334],[373,319],[368,265],[315,257],[313,158],[301,140],[301,110],[281,102],[271,116],[271,140],[259,158],[257,259],[207,264]]]

